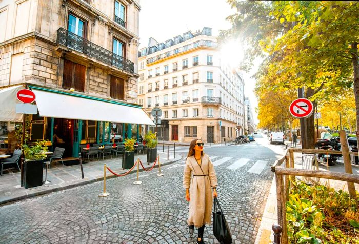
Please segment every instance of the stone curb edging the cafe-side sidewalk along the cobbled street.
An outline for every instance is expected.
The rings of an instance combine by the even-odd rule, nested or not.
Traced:
[[[173,164],[174,162],[182,160],[182,155],[181,154],[176,154],[176,156],[178,156],[178,159],[176,158],[176,159],[174,159],[172,161],[164,162],[163,164],[161,164],[161,166]],[[147,168],[150,168],[150,167],[151,166],[145,167],[145,168],[147,169]],[[154,168],[158,168],[158,165],[156,165]],[[145,171],[145,170],[144,169],[139,170],[139,172],[143,172],[143,171]],[[133,170],[132,172],[129,173],[129,175],[134,174],[134,173],[137,173],[137,171]],[[117,176],[115,176],[115,175],[113,175],[111,173],[108,176],[106,175],[106,179],[112,179],[112,178],[115,178],[115,177],[117,177]],[[71,189],[71,188],[75,188],[75,187],[79,187],[79,186],[84,186],[84,185],[88,185],[88,184],[91,184],[91,183],[94,183],[94,182],[97,182],[97,181],[103,181],[103,180],[104,180],[104,176],[102,176],[102,177],[90,176],[90,177],[85,177],[84,179],[77,179],[77,180],[74,180],[72,182],[70,181],[70,182],[63,182],[63,183],[55,184],[55,185],[49,186],[49,188],[46,189],[46,190],[41,189],[41,191],[36,192],[37,189],[32,189],[34,192],[32,192],[30,194],[25,192],[24,194],[22,194],[20,196],[9,197],[9,198],[4,197],[0,201],[0,206],[4,206],[4,205],[7,205],[7,204],[12,204],[12,203],[14,203],[15,201],[18,201],[18,200],[23,200],[23,199],[27,199],[27,198],[31,198],[31,197],[35,197],[35,196],[39,196],[39,195],[49,194],[49,193],[52,193],[52,192],[58,192],[58,191],[66,190],[66,189]]]

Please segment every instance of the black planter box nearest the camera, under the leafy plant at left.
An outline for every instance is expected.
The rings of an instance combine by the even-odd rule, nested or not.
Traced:
[[[24,187],[37,187],[43,185],[44,160],[26,161],[24,164]]]

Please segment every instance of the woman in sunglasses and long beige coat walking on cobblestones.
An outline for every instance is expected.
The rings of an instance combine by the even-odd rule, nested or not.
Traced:
[[[211,223],[213,197],[217,197],[217,176],[211,159],[203,152],[203,146],[200,139],[191,141],[183,173],[183,187],[189,201],[188,234],[193,236],[194,227],[197,227],[198,244],[204,243],[205,224]]]

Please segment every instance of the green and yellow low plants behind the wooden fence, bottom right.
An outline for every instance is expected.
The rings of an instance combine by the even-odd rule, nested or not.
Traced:
[[[359,243],[359,211],[348,193],[291,183],[286,204],[291,243]]]

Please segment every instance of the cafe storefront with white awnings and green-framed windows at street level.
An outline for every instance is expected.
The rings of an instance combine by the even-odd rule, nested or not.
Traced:
[[[39,112],[26,115],[30,143],[48,139],[51,149],[65,148],[65,157],[77,157],[80,144],[119,143],[126,138],[142,141],[141,125],[153,125],[141,106],[45,87],[28,87],[36,95]],[[21,139],[16,137],[16,127],[21,127],[19,121],[23,118],[15,113],[14,94],[22,88],[16,86],[0,91],[3,94],[0,103],[7,105],[0,109],[0,150],[8,153]],[[137,124],[139,122],[141,124]]]

